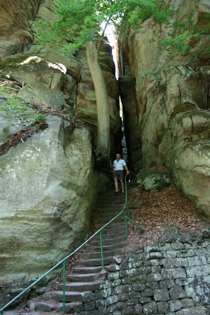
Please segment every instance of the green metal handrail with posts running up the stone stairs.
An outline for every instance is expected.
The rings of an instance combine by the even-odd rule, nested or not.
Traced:
[[[132,172],[130,172],[132,173]],[[133,173],[132,173],[133,174]],[[133,174],[135,175],[135,174]],[[127,175],[126,175],[127,176]],[[66,260],[71,258],[79,249],[81,249],[84,245],[86,245],[87,242],[89,242],[93,237],[95,237],[99,233],[100,237],[100,252],[101,252],[101,266],[102,269],[104,269],[104,262],[103,262],[103,246],[102,246],[102,230],[109,225],[111,222],[113,222],[119,215],[124,212],[124,222],[125,222],[125,234],[126,238],[128,238],[128,232],[127,232],[127,220],[138,226],[142,231],[146,231],[142,227],[140,227],[138,224],[136,224],[133,220],[130,219],[129,217],[129,207],[128,207],[128,200],[127,200],[127,195],[128,195],[128,188],[127,188],[127,183],[126,183],[126,176],[125,178],[125,203],[122,208],[122,210],[114,216],[110,221],[108,221],[105,225],[103,225],[100,229],[98,229],[93,235],[91,235],[85,242],[83,242],[79,247],[77,247],[74,251],[72,251],[69,255],[67,255],[65,258],[60,260],[57,264],[55,264],[51,269],[49,269],[47,272],[45,272],[42,276],[40,276],[37,280],[35,280],[33,283],[31,283],[28,287],[26,287],[22,292],[20,292],[18,295],[16,295],[12,300],[10,300],[7,304],[5,304],[3,307],[0,308],[0,313],[3,315],[4,309],[9,306],[11,303],[13,303],[15,300],[17,300],[22,294],[24,294],[27,290],[29,290],[33,285],[35,285],[37,282],[39,282],[41,279],[43,279],[47,274],[49,274],[52,270],[57,268],[59,265],[63,264],[63,300],[62,300],[62,311],[63,313],[65,312],[65,267],[66,267]],[[127,213],[125,213],[125,209],[127,208]]]

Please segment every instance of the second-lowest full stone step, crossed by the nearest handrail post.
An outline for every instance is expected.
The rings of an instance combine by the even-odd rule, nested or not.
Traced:
[[[60,291],[49,291],[43,294],[44,299],[62,301],[62,290]],[[94,293],[91,291],[66,291],[65,301],[66,302],[86,302],[94,300]]]

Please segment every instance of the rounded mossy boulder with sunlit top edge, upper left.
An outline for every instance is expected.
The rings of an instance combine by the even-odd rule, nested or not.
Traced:
[[[9,79],[24,84],[18,92],[27,100],[51,106],[74,116],[76,81],[64,72],[61,63],[48,62],[31,54],[16,54],[0,63],[2,72],[11,73]],[[18,75],[18,76],[17,76]]]

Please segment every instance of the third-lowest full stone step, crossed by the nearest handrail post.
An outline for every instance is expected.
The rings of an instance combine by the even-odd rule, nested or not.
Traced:
[[[70,282],[65,284],[65,291],[95,291],[99,289],[102,280],[95,280],[93,282]],[[56,285],[57,290],[62,290],[62,283]]]

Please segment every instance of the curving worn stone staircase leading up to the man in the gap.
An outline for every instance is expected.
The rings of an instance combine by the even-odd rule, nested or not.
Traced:
[[[128,185],[132,186],[131,183]],[[110,191],[101,196],[97,203],[97,209],[93,213],[93,233],[122,210],[124,201],[125,193],[121,192]],[[74,261],[72,272],[66,275],[65,313],[94,314],[94,292],[105,281],[108,271],[115,270],[116,256],[123,252],[123,247],[127,244],[123,214],[108,224],[101,234],[104,270],[101,267],[98,234],[90,241],[79,259]],[[45,292],[41,298],[28,301],[30,312],[25,313],[25,315],[62,312],[62,285],[62,283],[57,283],[54,290]],[[4,312],[4,314],[6,313]],[[21,314],[24,313],[21,312]]]

